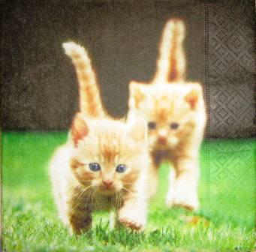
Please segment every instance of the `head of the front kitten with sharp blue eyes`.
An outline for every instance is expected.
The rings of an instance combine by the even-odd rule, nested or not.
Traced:
[[[83,186],[111,195],[133,190],[148,160],[146,124],[89,119],[78,113],[71,127],[71,169]]]

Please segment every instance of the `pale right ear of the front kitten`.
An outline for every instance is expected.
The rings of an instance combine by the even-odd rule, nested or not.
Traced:
[[[133,121],[128,129],[128,135],[136,142],[145,141],[147,136],[146,121],[142,118]]]

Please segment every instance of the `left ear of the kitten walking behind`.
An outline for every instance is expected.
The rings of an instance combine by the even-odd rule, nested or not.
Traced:
[[[140,102],[146,98],[146,95],[143,92],[143,86],[140,83],[131,81],[131,83],[129,84],[129,90],[129,107],[137,109]]]

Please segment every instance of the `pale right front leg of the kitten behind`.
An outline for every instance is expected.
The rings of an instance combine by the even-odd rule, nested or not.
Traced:
[[[167,194],[167,205],[182,206],[190,210],[197,209],[199,207],[197,196],[198,157],[179,156],[173,161],[173,165],[176,169],[176,180],[173,184],[173,192],[169,191]],[[173,178],[171,179],[173,180]]]

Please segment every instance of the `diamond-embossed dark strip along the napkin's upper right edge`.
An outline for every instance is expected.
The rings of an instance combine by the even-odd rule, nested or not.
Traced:
[[[254,6],[206,4],[209,127],[215,137],[252,136],[254,127]]]

